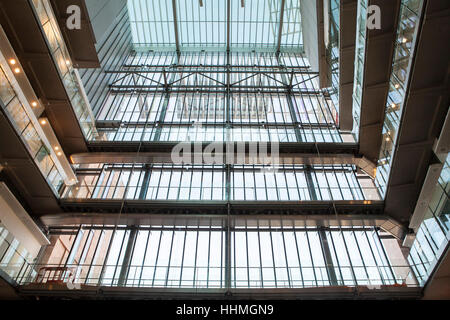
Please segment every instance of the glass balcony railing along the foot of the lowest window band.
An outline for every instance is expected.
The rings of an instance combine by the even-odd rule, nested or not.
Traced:
[[[347,276],[330,280],[327,268],[321,267],[232,267],[232,288],[311,288],[326,286],[403,286],[417,287],[409,266],[391,266],[395,271],[393,276],[373,277],[383,275],[383,266],[353,266],[339,267]],[[73,288],[76,284],[88,286],[109,287],[153,287],[153,288],[225,288],[225,268],[195,267],[195,266],[137,266],[131,265],[127,276],[120,279],[121,266],[118,265],[88,265],[88,264],[46,264],[34,265],[33,272],[20,277],[21,285],[56,283]],[[338,269],[338,268],[336,268]],[[263,280],[259,274],[284,272],[288,270],[289,277]],[[366,274],[369,276],[362,276]],[[242,275],[250,274],[250,278]],[[303,278],[300,274],[305,275]],[[315,274],[315,276],[313,276]],[[356,274],[353,277],[352,274]],[[164,276],[161,276],[164,275]],[[298,275],[298,276],[297,276]],[[308,276],[309,275],[309,276]],[[316,278],[316,279],[314,279]]]

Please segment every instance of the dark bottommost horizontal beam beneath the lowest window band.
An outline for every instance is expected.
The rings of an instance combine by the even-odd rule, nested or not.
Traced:
[[[18,288],[21,297],[50,297],[76,299],[233,299],[241,300],[303,300],[303,299],[346,299],[346,300],[407,300],[420,299],[422,288],[403,286],[380,286],[379,290],[369,289],[367,286],[355,287],[317,287],[317,288],[148,288],[148,287],[109,287],[85,286],[80,290],[70,290],[67,284],[31,283]]]

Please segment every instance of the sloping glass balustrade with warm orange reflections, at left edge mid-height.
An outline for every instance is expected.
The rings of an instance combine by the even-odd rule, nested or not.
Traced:
[[[39,137],[30,117],[25,111],[11,83],[0,66],[0,100],[5,113],[22,142],[38,166],[55,194],[64,184],[63,175],[58,171],[48,148]]]

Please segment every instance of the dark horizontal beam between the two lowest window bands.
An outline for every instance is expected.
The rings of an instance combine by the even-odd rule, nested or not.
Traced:
[[[383,214],[383,201],[171,201],[121,199],[61,199],[67,213],[165,215],[364,215],[368,219]],[[122,204],[123,202],[123,204]],[[261,205],[264,203],[264,205]]]

